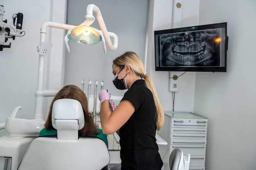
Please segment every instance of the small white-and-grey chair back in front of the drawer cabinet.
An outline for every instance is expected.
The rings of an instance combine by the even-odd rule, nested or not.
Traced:
[[[190,154],[183,155],[179,148],[173,149],[169,157],[170,170],[189,170]]]

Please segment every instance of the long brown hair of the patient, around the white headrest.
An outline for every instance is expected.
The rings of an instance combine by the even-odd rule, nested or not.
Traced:
[[[88,100],[85,93],[76,85],[66,85],[54,96],[49,108],[48,118],[45,122],[46,129],[54,129],[52,126],[52,105],[53,103],[62,98],[70,98],[78,100],[83,108],[85,125],[83,129],[79,130],[79,136],[92,135],[98,133],[98,127],[93,122],[93,116],[88,111]]]

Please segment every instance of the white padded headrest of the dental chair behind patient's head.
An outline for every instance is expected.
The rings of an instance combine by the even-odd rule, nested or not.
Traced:
[[[79,101],[58,99],[52,106],[52,126],[57,130],[80,130],[85,124],[83,108]]]

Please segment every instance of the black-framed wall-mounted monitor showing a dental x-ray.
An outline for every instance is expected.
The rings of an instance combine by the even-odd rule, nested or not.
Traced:
[[[227,22],[154,33],[156,71],[227,72]]]

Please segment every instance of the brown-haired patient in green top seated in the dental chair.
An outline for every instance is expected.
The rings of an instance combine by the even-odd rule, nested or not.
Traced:
[[[102,133],[102,130],[99,129],[99,127],[96,124],[94,124],[93,116],[88,111],[87,97],[85,93],[76,85],[66,85],[55,95],[49,108],[48,118],[45,122],[45,127],[41,129],[39,135],[40,136],[41,135],[57,135],[57,130],[54,129],[54,127],[52,126],[52,106],[56,100],[62,99],[62,98],[70,98],[70,99],[78,100],[83,107],[85,125],[83,129],[79,130],[78,132],[79,136],[80,137],[85,137],[85,136],[99,137],[106,143],[108,147],[107,135]]]

